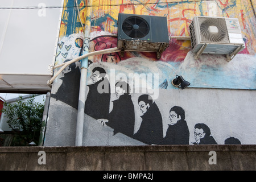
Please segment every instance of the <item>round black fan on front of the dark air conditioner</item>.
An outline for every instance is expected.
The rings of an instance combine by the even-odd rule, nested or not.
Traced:
[[[127,36],[135,39],[144,38],[149,32],[147,22],[138,16],[131,16],[125,19],[122,29]]]

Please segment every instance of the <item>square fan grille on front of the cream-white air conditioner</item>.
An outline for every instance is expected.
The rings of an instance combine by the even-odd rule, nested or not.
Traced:
[[[199,18],[199,24],[203,42],[229,43],[225,19]]]

